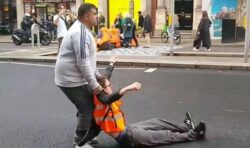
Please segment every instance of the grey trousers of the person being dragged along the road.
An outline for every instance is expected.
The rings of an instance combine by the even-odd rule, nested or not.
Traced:
[[[189,141],[189,128],[164,119],[151,119],[127,126],[124,138],[118,141],[127,147],[153,147]]]

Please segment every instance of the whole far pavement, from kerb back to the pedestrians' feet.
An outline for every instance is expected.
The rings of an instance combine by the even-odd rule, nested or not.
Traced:
[[[0,36],[2,37],[2,36]],[[190,40],[191,42],[191,40]],[[250,70],[250,64],[244,63],[243,43],[221,44],[218,40],[213,41],[212,52],[200,49],[192,51],[192,45],[188,40],[174,47],[174,56],[170,56],[169,45],[161,43],[160,39],[154,38],[150,48],[119,48],[110,51],[99,51],[98,64],[106,64],[111,56],[118,56],[118,65],[143,66],[143,67],[175,67],[196,69],[226,69],[226,70]],[[139,39],[143,45],[144,39]],[[0,45],[12,43],[0,43]],[[27,46],[27,45],[25,45]],[[56,44],[43,46],[40,49],[23,48],[7,51],[8,46],[0,52],[1,61],[25,61],[25,62],[52,62],[56,61]],[[0,47],[1,50],[1,47]]]

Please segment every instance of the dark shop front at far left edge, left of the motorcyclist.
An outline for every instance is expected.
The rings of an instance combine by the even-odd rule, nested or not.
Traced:
[[[0,33],[9,34],[16,26],[16,0],[0,1]]]

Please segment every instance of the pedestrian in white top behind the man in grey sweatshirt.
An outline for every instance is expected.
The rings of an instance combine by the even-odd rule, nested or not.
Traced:
[[[61,47],[62,40],[67,33],[68,22],[66,17],[66,9],[63,5],[58,8],[58,14],[54,16],[54,24],[57,26],[58,52]]]

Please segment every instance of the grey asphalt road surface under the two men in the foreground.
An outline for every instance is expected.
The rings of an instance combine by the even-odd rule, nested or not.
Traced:
[[[127,123],[150,118],[182,122],[186,111],[208,126],[205,141],[170,148],[248,148],[250,73],[189,69],[116,69],[115,88],[134,81],[142,90],[124,97]],[[0,147],[71,148],[76,110],[54,84],[54,68],[0,63]],[[118,147],[99,136],[102,148]]]

